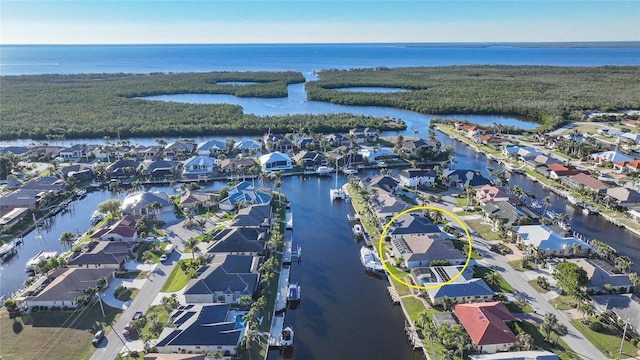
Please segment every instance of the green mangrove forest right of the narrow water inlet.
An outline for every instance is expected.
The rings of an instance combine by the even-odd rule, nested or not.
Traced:
[[[424,114],[518,115],[555,128],[584,111],[640,108],[640,67],[445,66],[323,70],[307,98]],[[407,92],[337,91],[393,87]]]

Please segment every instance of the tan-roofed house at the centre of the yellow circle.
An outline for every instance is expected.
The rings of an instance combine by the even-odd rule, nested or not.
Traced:
[[[428,235],[395,235],[391,245],[396,258],[404,261],[408,269],[429,266],[433,261],[448,261],[451,265],[464,264],[466,256],[449,240]]]

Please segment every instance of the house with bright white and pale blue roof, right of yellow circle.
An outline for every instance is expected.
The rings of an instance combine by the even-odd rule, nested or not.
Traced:
[[[547,225],[516,226],[513,230],[519,242],[539,248],[544,257],[585,257],[592,250],[586,242],[574,236],[560,234]]]

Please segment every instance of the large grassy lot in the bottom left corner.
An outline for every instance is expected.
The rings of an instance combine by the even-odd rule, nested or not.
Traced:
[[[93,334],[108,329],[120,310],[100,304],[83,311],[42,311],[25,313],[15,319],[0,311],[0,358],[2,359],[88,359],[95,348]]]

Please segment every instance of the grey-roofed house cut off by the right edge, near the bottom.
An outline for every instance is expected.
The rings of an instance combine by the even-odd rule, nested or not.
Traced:
[[[591,296],[596,311],[606,313],[621,323],[627,323],[627,331],[640,336],[640,299],[633,294]]]

